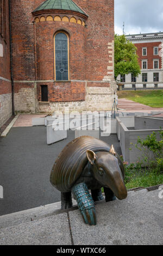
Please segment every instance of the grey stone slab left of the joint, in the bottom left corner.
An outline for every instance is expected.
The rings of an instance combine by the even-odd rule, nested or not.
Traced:
[[[67,214],[0,229],[0,245],[71,245]]]

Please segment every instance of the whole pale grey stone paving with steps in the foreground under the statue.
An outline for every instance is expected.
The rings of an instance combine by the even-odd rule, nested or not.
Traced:
[[[0,245],[163,245],[160,192],[131,191],[125,200],[96,204],[96,226],[76,208],[56,211],[55,204],[1,216]]]

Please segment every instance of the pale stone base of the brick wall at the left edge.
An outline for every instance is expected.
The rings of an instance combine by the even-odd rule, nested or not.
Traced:
[[[12,115],[12,94],[0,94],[0,127]]]

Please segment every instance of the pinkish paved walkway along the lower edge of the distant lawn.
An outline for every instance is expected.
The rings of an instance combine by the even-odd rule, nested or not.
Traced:
[[[124,109],[123,112],[162,112],[160,116],[163,116],[163,108],[153,108],[135,101],[118,99],[118,108]]]

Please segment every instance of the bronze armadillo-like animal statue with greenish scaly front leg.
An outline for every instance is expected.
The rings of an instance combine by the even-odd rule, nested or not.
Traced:
[[[83,136],[68,143],[52,168],[51,184],[61,191],[61,209],[72,207],[71,192],[86,224],[96,225],[95,204],[127,197],[124,167],[113,145]],[[91,194],[89,192],[91,190]]]

